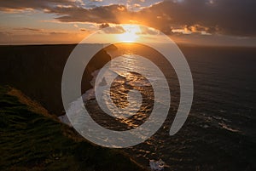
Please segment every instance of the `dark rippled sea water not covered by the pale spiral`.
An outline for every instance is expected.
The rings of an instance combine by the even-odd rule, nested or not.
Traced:
[[[148,166],[149,159],[161,158],[168,165],[166,170],[256,169],[255,48],[181,48],[192,72],[195,92],[189,117],[183,128],[173,136],[169,136],[169,129],[179,104],[179,85],[172,66],[160,54],[150,53],[142,47],[119,49],[121,54],[129,54],[131,58],[132,54],[141,52],[152,60],[166,75],[172,94],[172,105],[160,130],[149,140],[125,149],[125,152],[145,166]],[[130,86],[135,88],[132,81],[136,82],[138,78],[129,81]],[[124,88],[127,87],[120,86],[120,83],[127,85],[128,81],[125,82],[125,77],[119,77],[113,83],[114,94],[124,94]],[[116,100],[115,103],[123,105],[124,101],[120,100],[118,104]],[[148,102],[148,105],[152,103]],[[91,111],[96,122],[106,128],[116,129],[114,124],[110,124],[113,118],[101,114],[96,100],[88,101],[86,108]],[[145,113],[148,114],[148,111],[150,107],[145,109]],[[116,121],[132,128],[137,126],[133,123],[146,119],[143,114],[142,117],[132,117],[131,121],[125,122]]]

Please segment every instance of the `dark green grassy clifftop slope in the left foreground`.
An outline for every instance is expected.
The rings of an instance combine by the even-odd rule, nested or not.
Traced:
[[[145,170],[90,144],[19,90],[0,87],[0,170]]]

